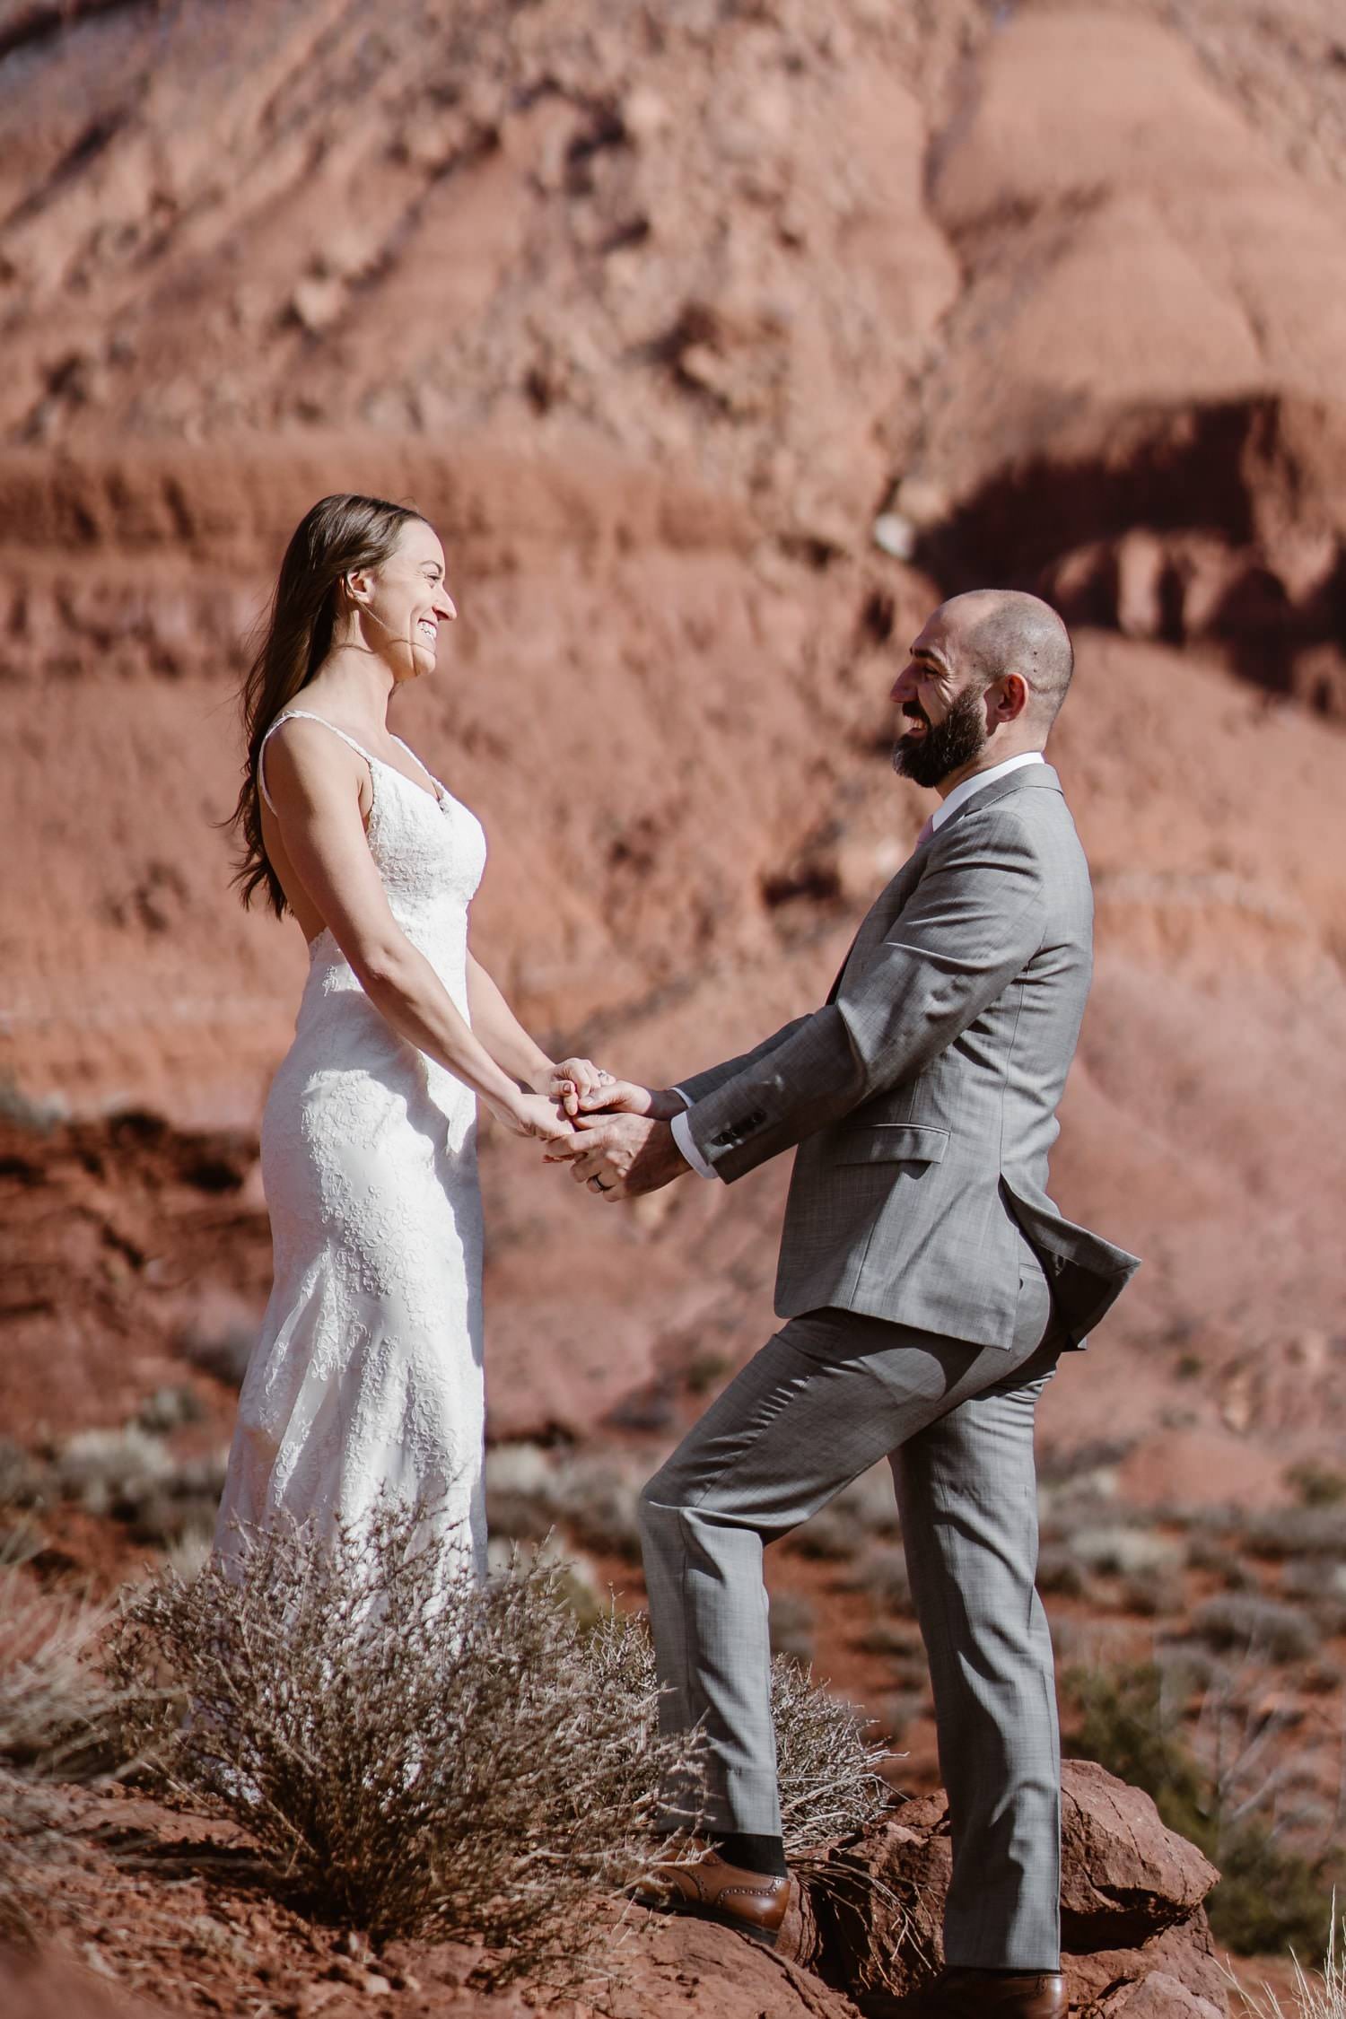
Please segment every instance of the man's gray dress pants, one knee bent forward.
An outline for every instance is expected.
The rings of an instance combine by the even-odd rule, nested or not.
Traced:
[[[944,1956],[965,1969],[1059,1967],[1033,1413],[1061,1345],[1027,1242],[1009,1353],[811,1310],[728,1383],[640,1502],[660,1720],[704,1730],[710,1829],[779,1835],[763,1545],[890,1460],[948,1791]]]

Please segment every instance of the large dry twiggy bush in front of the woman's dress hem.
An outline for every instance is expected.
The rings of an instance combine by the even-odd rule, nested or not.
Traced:
[[[482,1983],[573,1981],[597,1898],[664,1849],[660,1783],[696,1785],[654,1702],[595,1688],[563,1567],[476,1585],[424,1510],[248,1538],[232,1577],[165,1571],[113,1662],[135,1738],[281,1888],[373,1940],[482,1942]]]

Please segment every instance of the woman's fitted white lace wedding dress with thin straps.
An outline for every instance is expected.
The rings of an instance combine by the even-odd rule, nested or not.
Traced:
[[[289,709],[266,735],[295,715],[325,721]],[[438,779],[432,795],[325,727],[369,765],[367,840],[387,902],[466,1018],[480,824]],[[258,783],[266,795],[260,761]],[[262,1114],[274,1288],[238,1403],[216,1555],[234,1565],[248,1532],[278,1520],[359,1530],[391,1498],[432,1502],[436,1530],[480,1577],[476,1098],[383,1022],[329,931],[309,963]]]

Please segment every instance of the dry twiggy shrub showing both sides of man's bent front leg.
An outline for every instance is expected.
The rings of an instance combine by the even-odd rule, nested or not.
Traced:
[[[611,1613],[589,1639],[595,1680],[630,1706],[634,1720],[658,1714],[654,1643],[644,1615]],[[785,1656],[771,1664],[781,1829],[791,1859],[872,1823],[890,1801],[870,1720],[829,1696]]]

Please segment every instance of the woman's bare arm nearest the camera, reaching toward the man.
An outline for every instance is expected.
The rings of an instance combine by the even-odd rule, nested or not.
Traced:
[[[266,785],[305,894],[387,1024],[478,1094],[515,1135],[569,1135],[553,1104],[521,1092],[472,1034],[430,961],[391,915],[359,810],[365,763],[293,721],[266,745]]]

